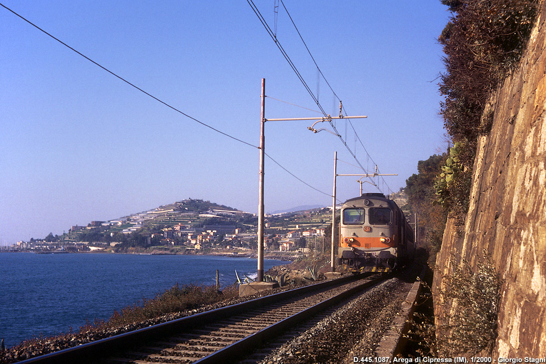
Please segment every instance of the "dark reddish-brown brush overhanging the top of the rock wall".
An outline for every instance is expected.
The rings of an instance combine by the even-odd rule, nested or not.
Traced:
[[[462,152],[461,173],[454,177],[449,196],[441,193],[438,201],[462,225],[468,210],[477,138],[489,133],[494,117],[492,111],[484,110],[492,92],[513,71],[525,50],[538,1],[441,2],[453,13],[438,38],[446,54],[446,72],[439,85],[445,96],[441,114],[449,136],[460,144]],[[438,175],[438,183],[444,178]]]

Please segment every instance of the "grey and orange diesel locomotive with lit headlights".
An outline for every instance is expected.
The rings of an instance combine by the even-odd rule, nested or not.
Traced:
[[[412,227],[383,193],[364,193],[341,207],[338,266],[353,273],[387,272],[413,259]]]

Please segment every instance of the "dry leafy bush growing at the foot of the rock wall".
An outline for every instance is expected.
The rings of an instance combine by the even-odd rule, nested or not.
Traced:
[[[452,259],[455,257],[452,255]],[[443,277],[434,290],[436,311],[441,320],[432,318],[432,288],[422,281],[420,305],[411,319],[408,332],[413,355],[454,357],[490,355],[497,338],[497,315],[501,280],[484,251],[473,271],[461,260],[450,274],[436,270]],[[430,304],[426,310],[427,303]],[[410,353],[411,354],[411,353]]]

